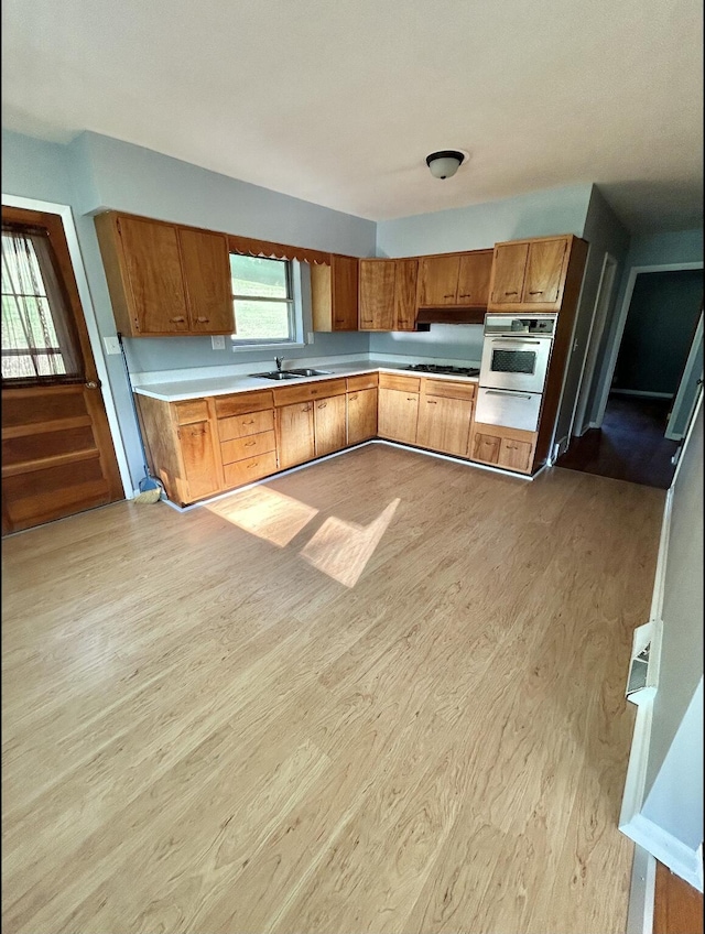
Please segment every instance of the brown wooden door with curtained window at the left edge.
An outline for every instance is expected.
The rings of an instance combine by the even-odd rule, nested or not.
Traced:
[[[2,206],[2,534],[123,499],[62,217]]]

